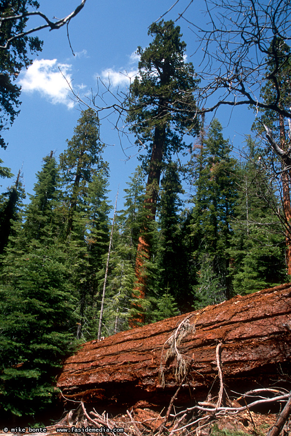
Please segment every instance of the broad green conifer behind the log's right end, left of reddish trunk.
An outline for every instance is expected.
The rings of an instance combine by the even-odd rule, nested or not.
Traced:
[[[229,249],[233,291],[239,294],[286,281],[284,236],[269,206],[272,203],[277,208],[278,201],[261,165],[262,150],[250,137],[246,142],[246,160],[237,171],[238,201]]]

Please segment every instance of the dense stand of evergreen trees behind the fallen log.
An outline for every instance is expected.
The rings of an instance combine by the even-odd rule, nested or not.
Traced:
[[[48,150],[25,203],[20,171],[13,178],[1,166],[2,183],[11,180],[0,195],[5,416],[33,420],[48,407],[62,361],[80,343],[290,281],[284,162],[262,140],[261,123],[233,150],[218,118],[195,116],[199,80],[179,26],[161,21],[149,34],[127,102],[140,157],[116,197],[122,208],[109,200],[110,164],[92,108],[80,112],[59,157]],[[262,98],[272,92],[266,81]],[[287,149],[287,121],[260,114]]]

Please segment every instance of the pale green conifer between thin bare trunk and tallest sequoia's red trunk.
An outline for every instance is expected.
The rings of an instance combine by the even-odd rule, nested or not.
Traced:
[[[156,307],[158,294],[158,273],[156,263],[143,256],[145,275],[148,278],[148,294],[146,299],[140,299],[140,288],[136,283],[136,257],[141,229],[147,229],[148,238],[152,238],[152,247],[158,237],[155,223],[148,220],[145,206],[145,173],[141,167],[129,177],[128,188],[125,189],[124,210],[116,217],[113,233],[113,247],[109,264],[104,309],[105,334],[130,327],[131,319],[141,318],[151,320],[151,312]],[[104,276],[104,272],[102,272]]]

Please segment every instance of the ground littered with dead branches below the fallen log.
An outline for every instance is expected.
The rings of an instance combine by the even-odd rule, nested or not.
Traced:
[[[169,419],[167,423],[165,423],[161,413],[146,407],[127,410],[126,413],[114,417],[109,417],[105,412],[102,415],[95,412],[95,409],[87,412],[84,405],[81,404],[54,425],[34,429],[26,427],[25,434],[45,433],[49,436],[56,436],[60,433],[75,435],[122,433],[128,436],[265,436],[277,420],[276,413],[267,413],[266,411],[261,413],[249,409],[220,417],[215,416],[214,413],[210,418],[207,414],[199,415],[199,422],[197,422],[197,416],[188,416],[184,417],[183,420],[172,421]],[[93,428],[94,430],[90,431]],[[119,429],[119,431],[113,430],[113,428]],[[8,429],[8,432],[0,430],[0,436],[24,434],[24,428],[21,429],[21,427],[14,429],[8,427]],[[15,431],[11,432],[11,430]],[[281,435],[291,435],[291,423],[285,424]]]

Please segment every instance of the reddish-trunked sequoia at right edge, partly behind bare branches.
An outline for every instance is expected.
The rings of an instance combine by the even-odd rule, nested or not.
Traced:
[[[280,109],[289,109],[291,106],[290,52],[288,44],[286,44],[281,37],[276,36],[273,43],[268,48],[268,56],[266,58],[267,80],[266,85],[260,92],[260,96],[266,104],[273,103],[279,96],[276,104]],[[267,161],[269,169],[273,171],[272,178],[277,179],[279,190],[282,192],[281,212],[278,214],[278,218],[282,223],[282,228],[285,233],[287,273],[291,275],[290,120],[284,119],[283,115],[278,115],[277,112],[272,109],[260,109],[260,112],[263,112],[261,120],[254,123],[253,130],[256,130],[259,134],[262,132],[266,133],[267,130],[267,139],[271,145],[270,150],[268,150],[267,153],[265,152],[265,155],[269,155]]]

